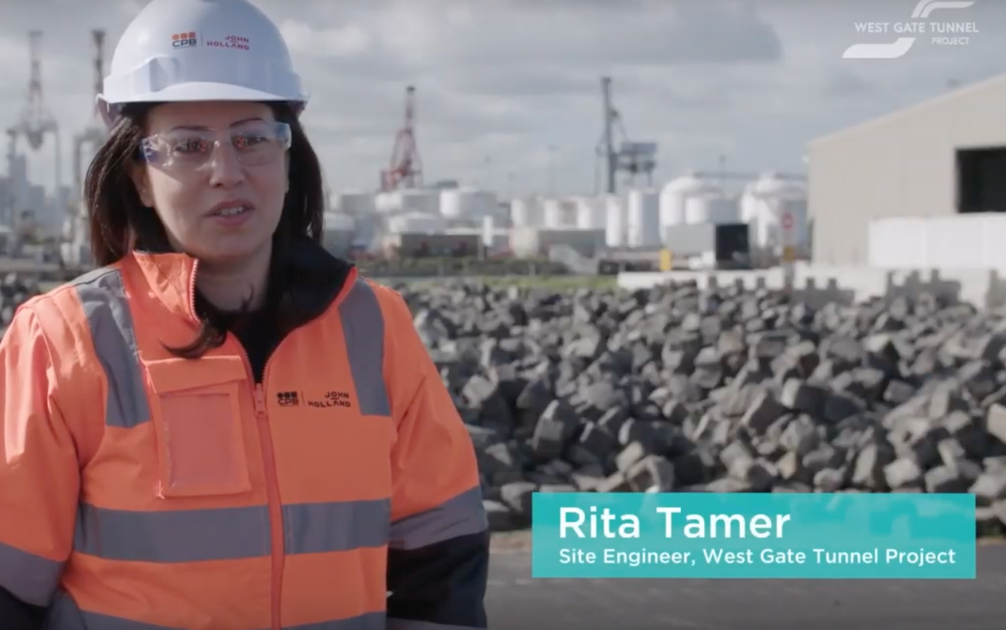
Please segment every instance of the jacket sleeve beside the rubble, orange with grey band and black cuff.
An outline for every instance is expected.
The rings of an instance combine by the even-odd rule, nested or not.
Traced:
[[[489,531],[475,449],[401,297],[387,289],[386,366],[397,438],[388,630],[487,627]]]

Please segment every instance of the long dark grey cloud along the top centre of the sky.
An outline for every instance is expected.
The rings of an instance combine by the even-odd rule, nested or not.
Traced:
[[[424,40],[424,49],[416,53],[431,64],[470,66],[666,65],[775,61],[783,56],[772,25],[744,4],[667,2],[660,9],[654,5],[653,9],[616,11],[613,7],[618,4],[591,3],[576,10],[567,3],[550,2],[465,4],[456,26],[441,39]],[[404,16],[388,19],[389,38],[406,26]]]

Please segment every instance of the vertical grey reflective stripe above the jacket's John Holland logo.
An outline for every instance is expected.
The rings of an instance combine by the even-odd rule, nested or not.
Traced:
[[[363,416],[390,416],[384,386],[384,314],[373,287],[357,279],[339,304],[349,371]]]

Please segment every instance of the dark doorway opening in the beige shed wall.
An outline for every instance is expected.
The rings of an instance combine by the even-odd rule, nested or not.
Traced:
[[[1006,212],[1006,147],[958,150],[957,211]]]

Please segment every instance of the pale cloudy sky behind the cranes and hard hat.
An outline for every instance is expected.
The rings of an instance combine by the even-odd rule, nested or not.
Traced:
[[[804,169],[807,142],[1006,72],[1006,2],[935,11],[901,58],[843,59],[893,41],[916,0],[257,0],[282,25],[312,93],[305,114],[335,190],[372,189],[416,87],[428,182],[502,193],[593,193],[601,77],[627,139],[659,143],[655,183],[685,169]],[[107,56],[145,0],[0,0],[0,125],[28,84],[27,31],[44,29],[45,101],[63,137],[93,103],[92,28]],[[934,22],[968,22],[937,44]],[[887,22],[886,34],[857,23]],[[52,181],[52,147],[31,158]],[[3,167],[0,167],[3,168]]]

